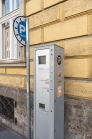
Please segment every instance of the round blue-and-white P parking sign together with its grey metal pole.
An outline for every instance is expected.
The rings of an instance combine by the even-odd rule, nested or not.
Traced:
[[[13,32],[23,46],[26,46],[26,73],[27,73],[27,123],[28,139],[31,139],[31,101],[30,101],[30,47],[29,47],[29,19],[18,16],[13,21]]]

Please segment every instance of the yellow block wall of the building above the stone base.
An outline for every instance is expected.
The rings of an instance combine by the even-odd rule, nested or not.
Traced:
[[[92,99],[92,0],[26,0],[25,8],[30,21],[31,89],[34,46],[56,43],[64,47],[65,94]],[[0,84],[26,88],[26,68],[0,68]]]

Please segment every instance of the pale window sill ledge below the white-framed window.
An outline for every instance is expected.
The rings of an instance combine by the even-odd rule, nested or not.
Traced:
[[[21,60],[0,60],[0,67],[26,67],[26,62]]]

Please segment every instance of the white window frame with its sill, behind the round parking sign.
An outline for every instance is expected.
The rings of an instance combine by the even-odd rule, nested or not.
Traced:
[[[14,18],[15,16],[25,16],[25,4],[26,4],[26,0],[19,0],[19,8],[15,9],[13,11],[11,11],[10,13],[3,15],[3,5],[2,5],[2,0],[0,0],[0,38],[1,39],[1,46],[0,47],[0,67],[14,67],[14,66],[18,66],[18,67],[24,67],[26,66],[26,59],[25,59],[25,46],[21,46],[20,45],[20,59],[12,59],[12,50],[10,52],[10,59],[2,59],[3,57],[3,28],[2,28],[2,24],[5,23],[7,20]],[[11,38],[11,36],[10,36]],[[11,45],[10,45],[11,46]],[[12,49],[12,48],[10,48]]]

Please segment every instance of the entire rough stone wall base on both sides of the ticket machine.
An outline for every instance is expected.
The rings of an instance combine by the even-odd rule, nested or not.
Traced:
[[[0,95],[17,102],[17,124],[0,115],[0,121],[27,137],[26,90],[0,85]],[[31,136],[33,138],[33,92],[31,91]],[[92,139],[92,101],[65,96],[65,139]]]

